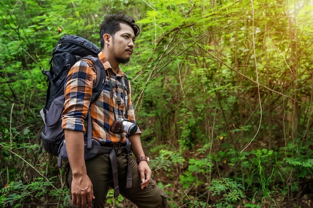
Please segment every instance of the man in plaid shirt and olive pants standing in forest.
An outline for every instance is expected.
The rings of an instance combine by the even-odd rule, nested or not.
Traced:
[[[90,61],[78,61],[67,75],[62,114],[70,167],[66,182],[71,189],[72,204],[78,208],[85,208],[86,204],[90,208],[92,203],[94,208],[103,208],[109,187],[114,189],[114,195],[120,193],[138,208],[167,208],[166,194],[151,178],[139,128],[133,135],[112,129],[118,118],[126,118],[136,124],[130,85],[122,78],[124,73],[119,64],[129,61],[138,34],[139,27],[131,17],[110,14],[104,18],[100,27],[101,52],[98,58],[108,72],[106,81],[110,85],[104,87],[95,102],[90,104],[92,86],[96,81],[94,65]],[[101,147],[112,148],[114,151],[98,154],[85,161],[84,121],[88,108],[92,120],[92,138]],[[128,157],[129,152],[125,151],[128,148],[127,137],[136,161]],[[129,177],[126,179],[129,176],[128,167],[131,168],[130,180]]]

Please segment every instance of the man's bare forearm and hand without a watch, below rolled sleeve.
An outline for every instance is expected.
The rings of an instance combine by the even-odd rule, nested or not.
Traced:
[[[70,169],[72,171],[71,196],[73,205],[84,208],[86,200],[88,208],[92,205],[92,183],[87,176],[84,160],[83,132],[64,130],[66,152]]]

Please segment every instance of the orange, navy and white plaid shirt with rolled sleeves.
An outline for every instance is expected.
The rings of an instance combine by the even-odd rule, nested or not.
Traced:
[[[117,74],[115,74],[102,52],[98,54],[98,57],[104,69],[108,70],[112,83],[120,86],[121,81],[125,85],[124,80],[120,79],[124,75],[122,70],[118,68]],[[116,77],[118,78],[116,79]],[[106,77],[106,80],[108,81],[108,77]],[[90,105],[92,87],[95,81],[96,72],[89,60],[80,60],[72,66],[66,77],[64,86],[65,101],[62,113],[62,129],[86,131],[84,121],[87,120],[88,106]],[[110,127],[114,121],[114,113],[116,118],[125,118],[125,96],[126,98],[128,97],[127,119],[132,123],[136,123],[130,99],[130,84],[128,84],[128,88],[128,94],[120,89],[122,99],[120,99],[121,103],[117,105],[117,88],[113,86],[112,99],[109,86],[105,86],[98,99],[91,103],[89,107],[92,120],[92,138],[98,140],[101,144],[109,145],[117,142],[125,142],[126,133],[114,133],[110,131]],[[140,133],[138,128],[136,134]]]

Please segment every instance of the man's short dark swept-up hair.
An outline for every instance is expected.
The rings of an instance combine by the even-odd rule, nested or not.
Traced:
[[[103,35],[105,33],[114,36],[114,34],[120,30],[119,23],[128,24],[135,34],[135,37],[139,34],[139,27],[135,24],[133,18],[124,14],[108,14],[104,17],[104,20],[100,26],[100,45],[101,49],[104,47]]]

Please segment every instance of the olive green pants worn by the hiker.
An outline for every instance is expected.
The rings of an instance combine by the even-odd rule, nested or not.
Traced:
[[[127,173],[127,154],[122,153],[116,156],[118,169],[119,193],[134,203],[138,208],[168,208],[166,194],[161,190],[156,182],[151,178],[147,188],[141,190],[140,174],[138,165],[131,157],[132,187],[125,189]],[[112,169],[108,154],[98,155],[86,161],[87,175],[93,185],[93,195],[95,197],[93,207],[104,208],[105,197],[108,189],[113,187]],[[70,189],[72,174],[68,163],[65,165],[66,185]]]

